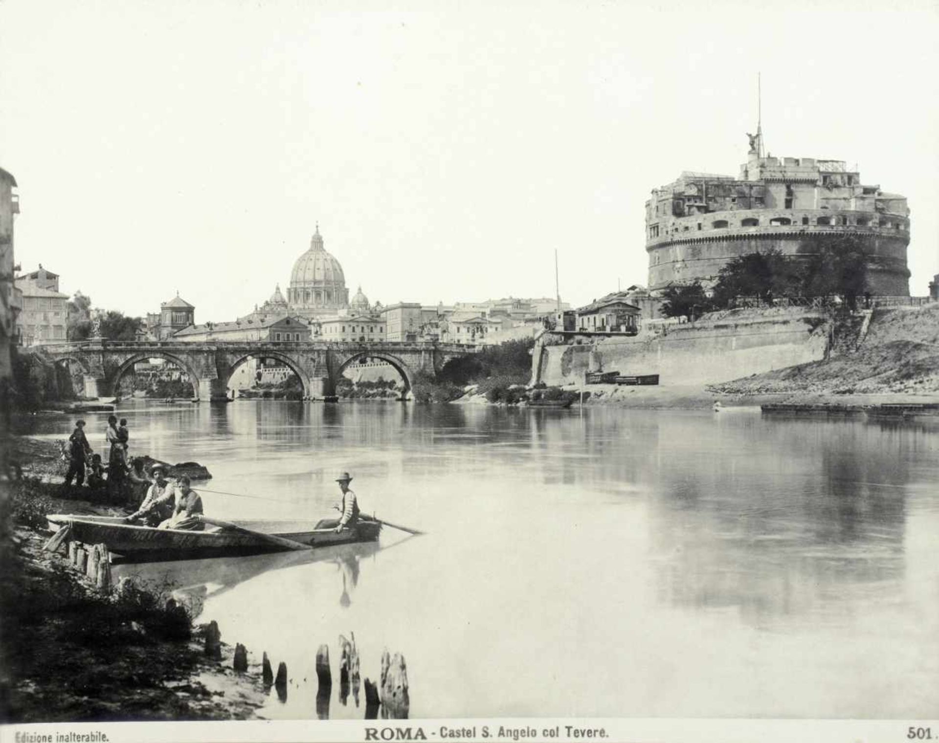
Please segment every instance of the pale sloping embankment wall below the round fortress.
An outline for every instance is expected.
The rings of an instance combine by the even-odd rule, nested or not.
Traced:
[[[821,317],[771,317],[671,326],[667,334],[597,337],[544,333],[532,383],[581,384],[591,371],[659,375],[660,384],[709,384],[824,359]]]

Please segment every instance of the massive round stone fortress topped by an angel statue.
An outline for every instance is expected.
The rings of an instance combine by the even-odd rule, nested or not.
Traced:
[[[646,202],[649,288],[716,281],[731,258],[776,248],[806,255],[812,239],[863,240],[871,294],[909,296],[906,198],[867,185],[843,161],[763,156],[762,132],[747,135],[737,178],[685,172]]]

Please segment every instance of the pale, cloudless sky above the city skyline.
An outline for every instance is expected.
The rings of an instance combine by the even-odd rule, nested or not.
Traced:
[[[319,224],[350,295],[575,306],[646,284],[644,202],[765,146],[857,163],[939,272],[939,5],[0,0],[23,271],[244,315]],[[354,10],[350,8],[355,8]],[[930,70],[933,70],[932,72]]]

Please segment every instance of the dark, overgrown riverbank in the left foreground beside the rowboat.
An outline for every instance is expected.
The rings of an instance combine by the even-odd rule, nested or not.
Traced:
[[[221,662],[205,655],[194,609],[180,623],[167,607],[172,586],[103,592],[61,548],[43,549],[48,513],[126,512],[62,488],[53,441],[18,437],[10,449],[24,478],[2,483],[0,495],[0,721],[255,717],[267,695],[259,674],[235,673],[230,648]]]

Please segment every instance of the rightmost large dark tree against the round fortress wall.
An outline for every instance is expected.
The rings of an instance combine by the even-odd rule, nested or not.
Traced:
[[[807,297],[840,297],[852,310],[868,285],[868,251],[856,235],[824,235],[808,242],[802,282]]]

